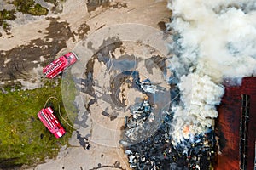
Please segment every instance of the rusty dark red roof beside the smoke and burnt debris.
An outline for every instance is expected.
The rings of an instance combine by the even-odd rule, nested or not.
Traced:
[[[232,83],[230,83],[232,84]],[[214,169],[254,169],[256,129],[256,77],[241,85],[225,84],[218,107],[216,133],[220,154]]]

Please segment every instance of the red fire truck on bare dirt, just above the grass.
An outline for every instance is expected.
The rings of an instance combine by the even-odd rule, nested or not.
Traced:
[[[79,58],[73,52],[62,55],[59,59],[55,59],[49,65],[44,67],[44,76],[48,78],[54,78],[58,76],[62,71],[67,69],[70,65],[73,65]]]

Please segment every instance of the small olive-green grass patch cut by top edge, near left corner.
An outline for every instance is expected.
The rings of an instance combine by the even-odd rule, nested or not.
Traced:
[[[47,15],[48,9],[42,7],[39,3],[35,4],[34,0],[15,0],[12,2],[23,14]]]

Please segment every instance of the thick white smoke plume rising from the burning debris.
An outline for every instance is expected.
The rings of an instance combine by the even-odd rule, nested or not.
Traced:
[[[174,143],[204,133],[218,116],[224,78],[256,75],[255,0],[172,0],[172,69],[180,77]],[[238,81],[239,82],[239,81]]]

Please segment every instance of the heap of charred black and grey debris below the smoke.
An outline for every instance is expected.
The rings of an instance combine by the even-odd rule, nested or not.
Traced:
[[[173,105],[179,101],[175,74],[168,83],[171,86],[171,99],[175,99]],[[148,79],[143,82],[138,79],[137,85],[143,94],[151,97],[163,90]],[[212,128],[173,145],[171,105],[168,111],[153,113],[154,104],[150,104],[148,99],[144,99],[141,105],[132,106],[131,116],[125,116],[125,131],[120,144],[124,146],[130,167],[150,170],[210,169],[216,149]]]

